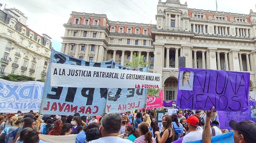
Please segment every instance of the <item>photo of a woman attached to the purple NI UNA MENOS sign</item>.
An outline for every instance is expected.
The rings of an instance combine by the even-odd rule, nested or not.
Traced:
[[[193,90],[194,73],[189,71],[180,71],[179,90]]]

